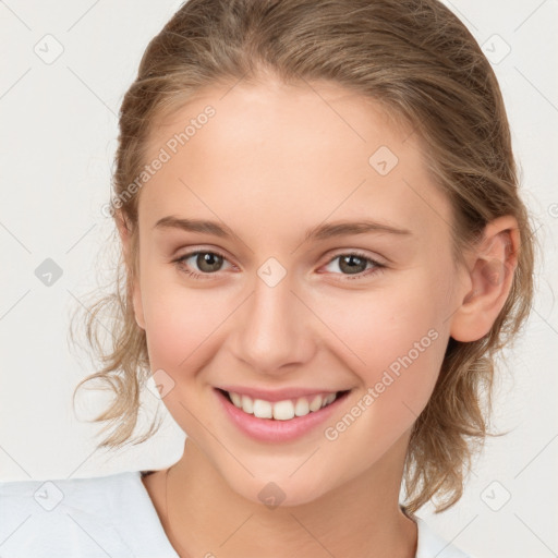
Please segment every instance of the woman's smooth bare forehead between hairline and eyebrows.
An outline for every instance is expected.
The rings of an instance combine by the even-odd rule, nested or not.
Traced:
[[[208,88],[157,122],[147,161],[162,151],[141,192],[149,226],[181,214],[283,235],[363,216],[433,233],[449,222],[416,134],[337,85]]]

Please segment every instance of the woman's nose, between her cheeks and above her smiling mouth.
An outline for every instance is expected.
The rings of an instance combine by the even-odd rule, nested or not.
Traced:
[[[274,287],[256,277],[254,291],[238,314],[235,356],[253,372],[283,375],[312,359],[316,317],[294,292],[289,275]]]

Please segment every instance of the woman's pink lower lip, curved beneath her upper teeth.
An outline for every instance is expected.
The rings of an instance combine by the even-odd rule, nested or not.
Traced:
[[[218,389],[216,389],[215,392],[229,418],[244,434],[258,441],[272,442],[290,441],[301,438],[306,433],[325,423],[349,395],[349,392],[344,392],[332,403],[323,407],[319,411],[311,412],[304,416],[294,416],[289,421],[277,421],[274,418],[258,418],[253,414],[247,414],[233,405],[225,393]]]

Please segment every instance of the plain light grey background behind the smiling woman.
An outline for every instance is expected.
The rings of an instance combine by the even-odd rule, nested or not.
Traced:
[[[494,427],[511,432],[487,442],[456,507],[441,515],[425,507],[418,515],[478,558],[551,557],[558,555],[551,288],[556,292],[558,275],[558,2],[446,3],[494,60],[545,260],[526,335],[498,373]],[[155,438],[116,453],[95,451],[96,427],[78,422],[71,407],[74,386],[93,366],[66,341],[74,307],[110,278],[110,253],[100,250],[112,223],[100,208],[109,197],[122,96],[148,40],[180,4],[0,1],[2,481],[159,469],[182,454],[184,435],[162,404],[167,417]],[[63,52],[46,63],[56,48]],[[35,275],[46,258],[63,271],[50,287]],[[150,392],[144,396],[142,425],[158,404]],[[81,404],[86,412],[101,403],[93,397]]]

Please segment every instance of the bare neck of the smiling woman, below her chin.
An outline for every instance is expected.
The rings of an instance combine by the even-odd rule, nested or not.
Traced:
[[[408,440],[400,441],[390,451],[402,463]],[[181,558],[413,558],[416,524],[398,502],[402,468],[393,459],[377,465],[312,502],[271,509],[234,493],[186,438],[163,481],[161,522]]]

